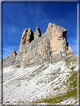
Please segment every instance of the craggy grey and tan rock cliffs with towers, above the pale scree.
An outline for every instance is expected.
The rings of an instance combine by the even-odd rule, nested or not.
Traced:
[[[52,58],[73,55],[73,50],[67,42],[67,30],[59,25],[49,23],[46,32],[42,35],[38,27],[36,32],[33,32],[31,28],[24,30],[20,49],[15,54],[14,65],[25,66],[48,61]]]

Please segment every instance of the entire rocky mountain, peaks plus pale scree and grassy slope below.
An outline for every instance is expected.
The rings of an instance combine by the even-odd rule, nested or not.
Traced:
[[[78,104],[77,59],[65,28],[49,23],[44,34],[25,29],[19,50],[3,59],[3,103]]]

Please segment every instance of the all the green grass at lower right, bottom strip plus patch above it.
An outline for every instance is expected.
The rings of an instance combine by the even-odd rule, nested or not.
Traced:
[[[68,98],[74,98],[77,99],[77,72],[71,72],[71,76],[69,79],[65,82],[65,85],[68,86],[68,90],[65,94],[59,94],[55,97],[47,97],[46,99],[37,100],[33,103],[61,103],[64,100],[67,100]],[[59,90],[59,88],[56,88]],[[54,89],[54,90],[56,90]]]

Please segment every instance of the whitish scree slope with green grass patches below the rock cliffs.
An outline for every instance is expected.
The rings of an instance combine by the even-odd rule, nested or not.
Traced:
[[[77,57],[3,70],[4,104],[78,104]]]

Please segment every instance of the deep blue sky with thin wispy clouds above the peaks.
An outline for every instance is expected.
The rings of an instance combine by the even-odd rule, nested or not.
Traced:
[[[67,40],[77,55],[77,3],[3,3],[3,58],[19,50],[25,28],[46,32],[49,23],[67,29]]]

